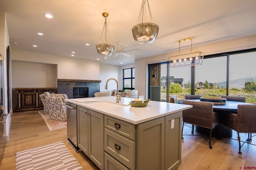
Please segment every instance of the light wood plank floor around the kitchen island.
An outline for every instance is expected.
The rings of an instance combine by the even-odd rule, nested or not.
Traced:
[[[190,127],[184,127],[184,134],[191,134]],[[196,134],[196,133],[195,133]],[[245,134],[242,139],[246,139]],[[255,135],[255,134],[254,134]],[[207,138],[207,136],[205,136]],[[236,133],[233,133],[236,138]],[[0,169],[15,170],[16,152],[63,141],[85,170],[96,170],[96,166],[82,152],[75,152],[67,142],[66,128],[49,131],[38,111],[20,112],[12,115],[8,143],[0,143]],[[256,143],[256,137],[252,139]],[[239,170],[239,167],[256,167],[256,146],[244,144],[242,155],[238,154],[238,141],[212,138],[209,149],[202,136],[184,135],[182,141],[182,163],[179,170]]]

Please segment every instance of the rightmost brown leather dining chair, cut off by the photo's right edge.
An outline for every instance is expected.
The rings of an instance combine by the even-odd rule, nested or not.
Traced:
[[[239,104],[237,107],[237,114],[223,114],[222,124],[237,132],[239,142],[238,154],[242,154],[239,133],[256,133],[256,105]],[[248,141],[248,139],[246,141]]]

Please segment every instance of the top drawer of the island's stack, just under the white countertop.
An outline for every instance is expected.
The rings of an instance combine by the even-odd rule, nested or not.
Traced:
[[[124,137],[132,139],[133,141],[136,139],[136,128],[132,123],[105,115],[104,126],[116,133],[119,133],[120,135],[123,135]]]

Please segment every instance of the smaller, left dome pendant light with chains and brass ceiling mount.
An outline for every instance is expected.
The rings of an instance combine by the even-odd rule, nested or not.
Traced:
[[[96,45],[96,49],[100,55],[102,55],[104,57],[109,57],[114,53],[115,47],[114,47],[114,45],[112,45],[112,42],[110,39],[110,34],[108,31],[107,17],[109,16],[109,14],[107,12],[104,12],[104,13],[102,13],[102,16],[105,17],[105,23],[103,25],[103,29],[102,29],[102,32],[100,35],[100,41]],[[104,34],[106,43],[102,43],[103,34]],[[110,40],[110,44],[108,43],[108,39]]]

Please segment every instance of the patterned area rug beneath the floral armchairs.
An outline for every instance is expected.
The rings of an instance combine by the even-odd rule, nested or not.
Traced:
[[[56,129],[61,129],[67,127],[67,122],[66,121],[58,121],[58,120],[52,120],[49,118],[48,114],[44,114],[44,111],[38,111],[40,115],[44,118],[44,121],[50,131],[56,130]]]

